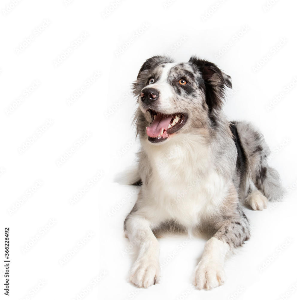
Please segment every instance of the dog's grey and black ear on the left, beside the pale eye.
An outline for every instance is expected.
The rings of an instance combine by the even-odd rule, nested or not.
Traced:
[[[152,70],[159,64],[166,64],[168,62],[173,62],[173,59],[169,56],[156,55],[147,59],[141,66],[137,80],[133,83],[133,93],[135,96],[140,94],[140,91],[147,84],[148,76]]]

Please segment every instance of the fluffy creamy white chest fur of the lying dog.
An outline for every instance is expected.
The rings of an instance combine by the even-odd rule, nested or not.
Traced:
[[[226,182],[214,169],[201,141],[153,145],[146,149],[152,170],[143,189],[142,207],[156,219],[172,219],[186,227],[202,215],[215,214],[226,194]]]

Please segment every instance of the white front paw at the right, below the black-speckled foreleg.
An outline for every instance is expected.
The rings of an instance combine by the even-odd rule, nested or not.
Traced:
[[[194,285],[197,289],[212,289],[225,281],[225,271],[219,262],[201,260],[195,269]]]

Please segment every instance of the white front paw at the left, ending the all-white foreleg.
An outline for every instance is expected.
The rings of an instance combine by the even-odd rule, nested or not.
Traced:
[[[132,269],[130,281],[138,287],[148,288],[159,280],[160,263],[148,257],[136,260]]]

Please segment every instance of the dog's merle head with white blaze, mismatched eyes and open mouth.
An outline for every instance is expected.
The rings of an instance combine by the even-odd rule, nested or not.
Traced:
[[[232,88],[230,76],[209,61],[195,56],[186,63],[167,56],[149,58],[133,84],[138,133],[158,143],[211,126],[222,108],[225,87]]]

